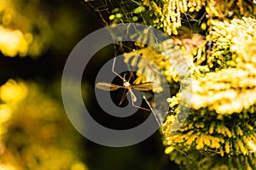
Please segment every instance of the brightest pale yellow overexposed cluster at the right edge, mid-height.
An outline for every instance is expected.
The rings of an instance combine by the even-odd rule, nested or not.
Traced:
[[[256,93],[256,80],[250,77],[252,74],[234,68],[208,73],[194,82],[191,106],[194,109],[208,107],[218,114],[233,114],[248,109],[256,103],[256,97],[252,95]]]

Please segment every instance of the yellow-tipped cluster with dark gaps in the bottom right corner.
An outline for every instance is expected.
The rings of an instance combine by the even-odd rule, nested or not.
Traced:
[[[252,106],[240,115],[223,116],[191,109],[176,133],[172,133],[175,116],[167,116],[162,125],[166,154],[185,169],[254,169],[255,111]]]

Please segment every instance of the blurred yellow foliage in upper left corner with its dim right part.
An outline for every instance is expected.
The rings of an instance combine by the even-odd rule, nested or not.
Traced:
[[[64,51],[60,42],[72,41],[80,28],[81,18],[73,18],[74,13],[65,3],[53,8],[38,0],[0,1],[0,52],[38,58],[49,46]]]

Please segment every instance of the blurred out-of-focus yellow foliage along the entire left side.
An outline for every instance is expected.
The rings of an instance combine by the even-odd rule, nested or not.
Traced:
[[[27,61],[31,61],[32,66],[37,65],[35,60],[21,58],[42,57],[50,46],[55,54],[60,54],[58,50],[65,54],[67,47],[77,38],[80,29],[77,23],[81,17],[73,17],[76,10],[67,8],[67,3],[58,4],[58,8],[55,8],[55,3],[0,1],[1,67],[9,68],[8,73],[1,72],[4,80],[15,77],[13,74],[17,68],[12,65],[15,61],[18,60],[20,65]],[[3,56],[20,58],[3,59]],[[48,59],[51,57],[49,55]],[[6,60],[8,65],[5,65]],[[27,68],[22,69],[26,72]],[[27,71],[34,70],[29,68]],[[40,80],[38,75],[36,77]],[[45,93],[37,82],[14,79],[1,83],[0,169],[86,170],[85,154],[79,148],[82,138],[68,121],[59,101],[52,96],[51,89]]]

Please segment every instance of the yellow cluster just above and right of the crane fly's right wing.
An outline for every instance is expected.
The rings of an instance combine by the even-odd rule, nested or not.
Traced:
[[[180,56],[180,50],[178,46],[174,46],[172,39],[169,39],[165,42],[163,47],[170,47],[169,53],[172,54],[172,57]],[[160,92],[162,88],[161,86],[161,79],[160,79],[160,72],[162,72],[168,82],[172,80],[177,82],[178,77],[177,73],[175,72],[174,67],[169,62],[164,54],[160,53],[162,49],[156,49],[153,47],[148,46],[147,48],[139,49],[136,51],[132,51],[130,53],[125,53],[125,63],[129,63],[129,60],[133,60],[131,62],[131,66],[137,65],[138,70],[137,72],[137,82],[154,82],[154,92]],[[137,57],[142,55],[145,59],[140,59],[138,63],[134,61],[137,60]],[[156,65],[156,66],[154,66]],[[173,73],[173,74],[170,74]]]

